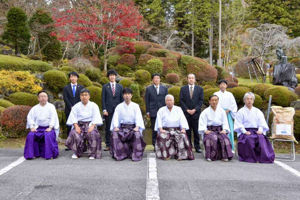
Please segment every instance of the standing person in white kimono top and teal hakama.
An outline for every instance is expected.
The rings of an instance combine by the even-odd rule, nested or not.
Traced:
[[[226,91],[228,86],[227,81],[225,79],[221,79],[218,82],[220,91],[215,92],[214,94],[219,97],[218,106],[223,108],[227,114],[227,119],[229,123],[230,133],[228,133],[228,138],[231,143],[232,150],[234,150],[234,136],[233,136],[233,121],[236,112],[238,111],[238,106],[236,105],[235,98],[231,92]]]

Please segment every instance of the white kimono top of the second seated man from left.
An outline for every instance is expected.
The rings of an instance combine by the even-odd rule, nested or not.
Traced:
[[[96,124],[96,126],[102,125],[103,122],[98,105],[92,101],[88,101],[85,106],[81,101],[76,103],[71,109],[67,125],[72,126],[73,129],[73,124],[78,124],[78,121],[91,121],[88,127],[91,127],[92,124]]]

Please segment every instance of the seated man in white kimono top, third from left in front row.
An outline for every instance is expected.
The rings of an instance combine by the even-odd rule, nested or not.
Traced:
[[[126,158],[139,161],[146,147],[142,137],[145,129],[142,112],[140,106],[131,101],[131,88],[124,88],[122,94],[124,102],[116,107],[110,125],[110,130],[113,131],[110,136],[110,155],[116,161]]]

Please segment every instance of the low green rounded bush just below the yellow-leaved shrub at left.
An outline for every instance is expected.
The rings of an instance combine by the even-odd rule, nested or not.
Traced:
[[[26,92],[15,92],[10,94],[9,101],[15,105],[35,106],[39,102],[38,96]]]

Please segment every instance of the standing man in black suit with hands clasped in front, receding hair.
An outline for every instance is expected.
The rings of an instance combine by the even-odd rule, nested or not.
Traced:
[[[194,133],[194,147],[197,153],[201,153],[200,136],[198,133],[199,116],[204,101],[203,88],[195,85],[196,76],[192,73],[187,75],[188,85],[180,88],[179,103],[184,113],[189,129],[186,130],[187,137],[192,145],[192,129]]]

